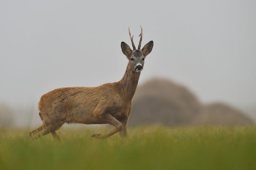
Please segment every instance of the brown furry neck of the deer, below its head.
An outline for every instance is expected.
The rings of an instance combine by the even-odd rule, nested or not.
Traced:
[[[119,93],[126,100],[132,100],[138,85],[139,76],[140,72],[132,71],[130,64],[128,64],[123,78],[118,82]]]

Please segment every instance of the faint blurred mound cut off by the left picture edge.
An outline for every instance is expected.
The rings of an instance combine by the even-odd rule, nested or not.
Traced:
[[[0,127],[9,127],[13,125],[13,116],[7,105],[0,103]]]

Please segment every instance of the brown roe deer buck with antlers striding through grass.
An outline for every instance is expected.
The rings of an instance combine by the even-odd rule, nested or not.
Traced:
[[[138,49],[129,36],[133,50],[125,42],[121,49],[129,60],[123,78],[119,82],[107,83],[98,87],[64,87],[44,94],[38,102],[39,116],[43,124],[31,131],[29,136],[37,139],[51,133],[59,139],[55,130],[64,123],[110,124],[115,127],[106,135],[94,134],[97,139],[107,138],[117,132],[127,136],[126,124],[131,111],[131,101],[136,91],[145,57],[152,51],[153,41],[146,43],[140,50],[142,27]]]

